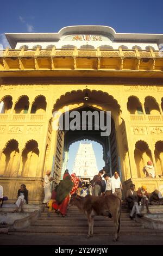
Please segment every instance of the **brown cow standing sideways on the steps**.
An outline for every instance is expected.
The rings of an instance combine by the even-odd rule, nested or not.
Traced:
[[[111,194],[109,196],[90,196],[80,197],[73,194],[70,206],[76,205],[78,209],[87,217],[89,230],[87,238],[93,236],[94,217],[96,215],[108,216],[111,214],[115,225],[114,241],[118,240],[120,233],[121,199]]]

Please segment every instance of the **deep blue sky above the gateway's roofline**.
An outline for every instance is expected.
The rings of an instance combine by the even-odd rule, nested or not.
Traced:
[[[8,0],[1,7],[0,43],[4,46],[4,33],[58,32],[72,25],[104,25],[120,33],[163,33],[163,1]]]

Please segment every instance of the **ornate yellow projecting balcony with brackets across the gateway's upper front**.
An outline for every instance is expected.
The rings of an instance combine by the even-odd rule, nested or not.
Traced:
[[[163,77],[163,58],[159,51],[113,49],[24,49],[3,51],[0,72],[55,69],[127,70],[127,72],[159,71]],[[99,58],[100,65],[99,65]],[[97,65],[98,63],[98,65]],[[22,73],[23,74],[23,73]],[[154,74],[155,76],[155,74]],[[153,77],[154,77],[153,76]],[[158,76],[157,76],[158,77]]]

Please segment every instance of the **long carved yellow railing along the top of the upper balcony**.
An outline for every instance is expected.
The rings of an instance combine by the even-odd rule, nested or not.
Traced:
[[[158,58],[159,51],[154,51],[152,48],[150,50],[139,50],[135,48],[135,50],[122,49],[119,47],[118,49],[78,49],[75,47],[74,49],[56,49],[53,47],[52,49],[40,49],[37,47],[36,49],[6,49],[2,51],[2,57],[124,57],[124,58]]]

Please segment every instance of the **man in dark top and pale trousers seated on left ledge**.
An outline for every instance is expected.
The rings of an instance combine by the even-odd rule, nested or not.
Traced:
[[[23,204],[28,204],[28,190],[26,185],[22,184],[21,188],[17,191],[16,209],[13,212],[18,212],[18,208],[21,206],[21,212],[23,212]]]

